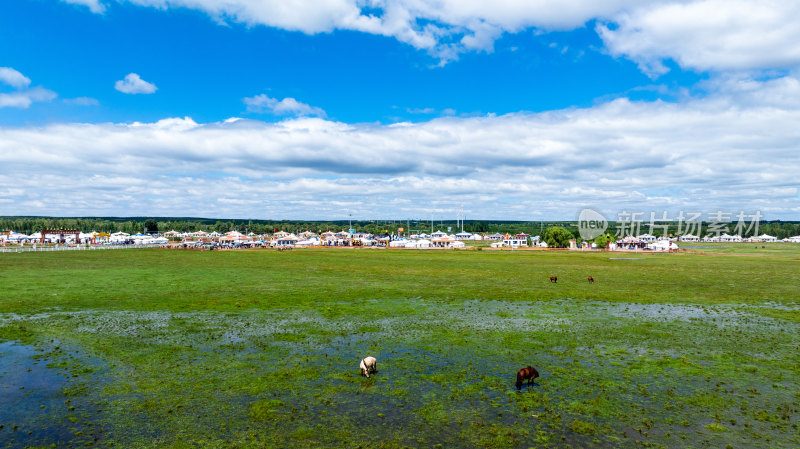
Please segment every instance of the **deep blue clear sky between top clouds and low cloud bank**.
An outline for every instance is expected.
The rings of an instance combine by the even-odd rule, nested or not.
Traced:
[[[591,106],[654,84],[635,63],[607,55],[591,22],[570,32],[505,35],[491,53],[470,52],[436,67],[438,58],[391,37],[220,26],[188,9],[109,3],[100,15],[40,0],[9,2],[4,10],[0,39],[10,44],[0,54],[4,65],[61,97],[91,97],[101,105],[88,111],[53,105],[47,112],[4,110],[6,123],[76,115],[89,121],[185,115],[217,121],[243,114],[241,99],[261,93],[301,99],[336,120],[388,123],[429,119],[446,109],[474,115]],[[158,95],[114,90],[114,81],[129,72],[153,81]],[[691,86],[698,78],[674,70],[659,84]],[[436,112],[421,112],[429,108]]]

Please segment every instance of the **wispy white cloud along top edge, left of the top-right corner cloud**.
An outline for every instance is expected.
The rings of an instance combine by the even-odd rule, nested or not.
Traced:
[[[78,0],[76,0],[78,1]],[[93,2],[93,0],[80,0]],[[443,63],[465,51],[492,51],[506,32],[566,30],[612,17],[647,0],[128,0],[141,6],[191,8],[220,22],[265,25],[307,34],[353,30],[393,37]],[[651,0],[653,1],[653,0]]]

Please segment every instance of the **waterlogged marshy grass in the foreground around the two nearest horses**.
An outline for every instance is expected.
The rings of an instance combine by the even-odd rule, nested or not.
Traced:
[[[762,312],[796,307],[0,314],[0,447],[794,448],[800,324]]]

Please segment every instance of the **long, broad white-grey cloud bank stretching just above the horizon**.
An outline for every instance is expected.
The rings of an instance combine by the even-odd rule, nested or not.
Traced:
[[[475,218],[568,218],[592,205],[798,219],[798,119],[800,80],[787,76],[730,79],[680,103],[392,125],[0,127],[0,192],[21,189],[4,210],[27,215],[413,218],[463,203]]]

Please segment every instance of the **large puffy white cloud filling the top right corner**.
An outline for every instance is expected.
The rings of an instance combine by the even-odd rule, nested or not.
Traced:
[[[597,31],[612,55],[651,75],[665,59],[706,71],[800,66],[800,3],[779,0],[671,1],[635,8]]]

